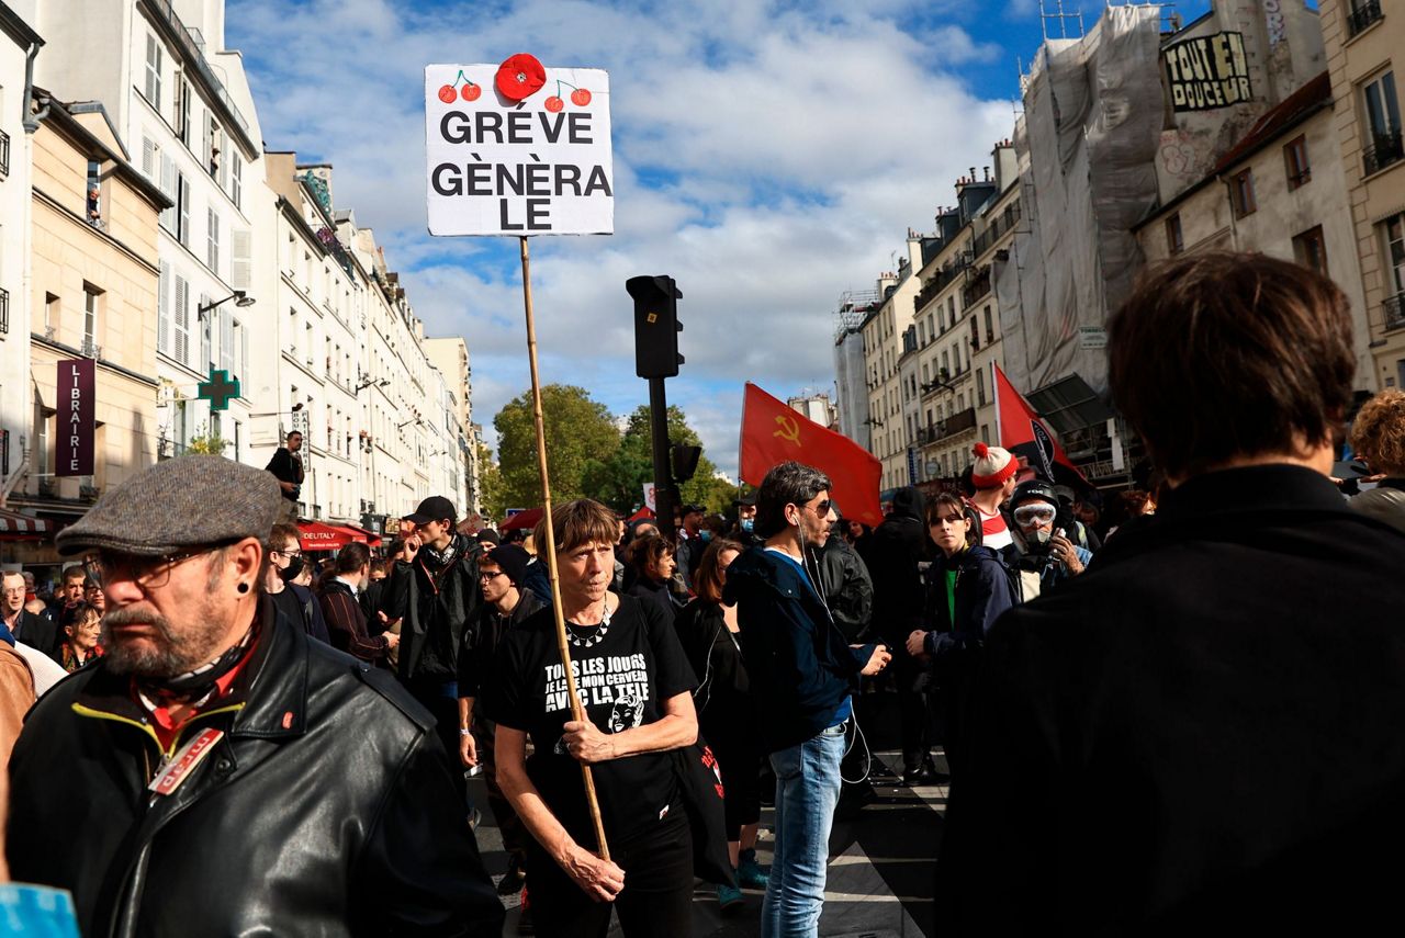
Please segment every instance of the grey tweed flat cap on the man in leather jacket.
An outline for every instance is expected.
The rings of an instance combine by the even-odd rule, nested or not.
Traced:
[[[282,511],[278,482],[223,456],[157,462],[59,532],[59,553],[100,548],[159,556],[240,538],[264,541]]]

